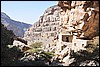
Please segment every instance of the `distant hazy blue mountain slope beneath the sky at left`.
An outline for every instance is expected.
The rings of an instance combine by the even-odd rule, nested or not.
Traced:
[[[12,30],[16,36],[20,37],[23,37],[26,29],[31,26],[30,24],[12,20],[3,12],[1,12],[1,23],[4,24],[8,30]]]

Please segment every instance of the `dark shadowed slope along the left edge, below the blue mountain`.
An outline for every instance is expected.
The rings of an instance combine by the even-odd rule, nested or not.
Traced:
[[[14,66],[16,61],[22,55],[17,47],[8,48],[8,44],[13,44],[13,38],[15,37],[12,31],[7,30],[3,24],[1,24],[1,66]]]

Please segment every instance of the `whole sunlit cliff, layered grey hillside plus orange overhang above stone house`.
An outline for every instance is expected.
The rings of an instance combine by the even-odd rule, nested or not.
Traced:
[[[78,38],[92,39],[99,35],[98,9],[98,1],[59,1],[58,6],[45,10],[43,16],[25,32],[24,39],[54,44],[59,34],[67,32],[76,32]]]

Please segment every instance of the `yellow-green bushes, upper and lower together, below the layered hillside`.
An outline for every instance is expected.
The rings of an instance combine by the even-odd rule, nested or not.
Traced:
[[[42,60],[42,61],[48,61],[50,58],[54,56],[53,52],[45,52],[41,47],[43,43],[42,42],[35,42],[30,45],[31,49],[25,51],[25,53],[30,53],[33,56],[35,56],[35,60]],[[35,55],[34,55],[35,54]]]

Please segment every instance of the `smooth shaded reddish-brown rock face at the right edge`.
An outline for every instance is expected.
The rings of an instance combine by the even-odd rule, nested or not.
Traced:
[[[90,19],[85,22],[82,30],[84,31],[84,37],[92,39],[99,35],[99,12],[92,11]]]

